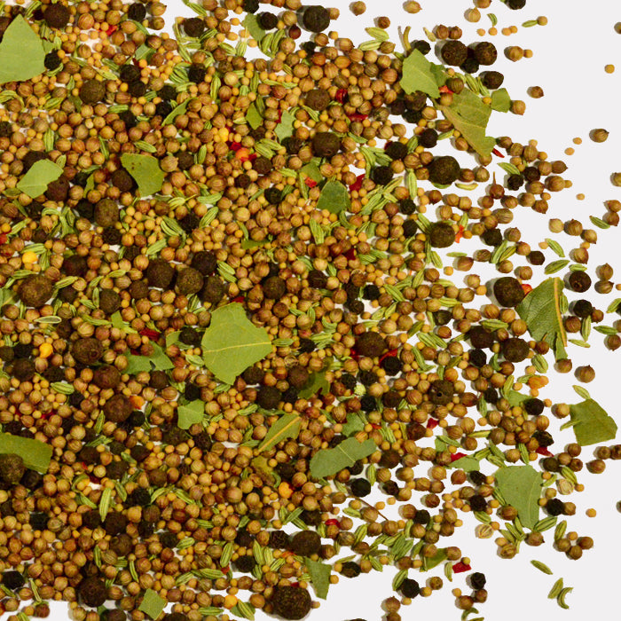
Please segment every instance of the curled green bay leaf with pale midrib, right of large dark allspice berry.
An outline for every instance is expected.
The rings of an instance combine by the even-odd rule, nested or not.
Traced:
[[[536,341],[545,340],[554,350],[554,358],[567,358],[564,345],[567,334],[562,323],[562,280],[544,280],[515,309]]]

